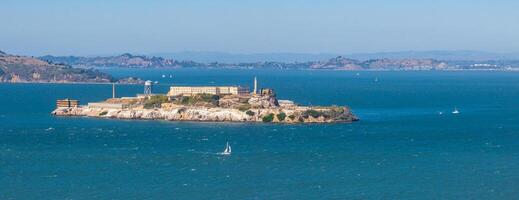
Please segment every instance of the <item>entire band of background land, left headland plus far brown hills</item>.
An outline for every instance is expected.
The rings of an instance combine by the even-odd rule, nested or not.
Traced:
[[[435,59],[356,60],[338,56],[323,61],[200,63],[122,54],[107,57],[10,55],[0,51],[0,83],[142,84],[139,77],[116,79],[105,69],[242,69],[328,71],[519,71],[519,60],[442,61]]]

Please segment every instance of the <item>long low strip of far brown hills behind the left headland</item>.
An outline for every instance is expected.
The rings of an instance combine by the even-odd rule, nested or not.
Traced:
[[[424,56],[426,54],[423,54]],[[396,54],[394,55],[397,56]],[[446,55],[445,55],[446,56]],[[519,69],[518,60],[438,60],[430,58],[352,59],[332,57],[304,62],[195,62],[125,53],[119,56],[76,57],[43,56],[42,60],[75,67],[131,67],[131,68],[235,68],[235,69],[327,69],[327,70],[511,70]]]

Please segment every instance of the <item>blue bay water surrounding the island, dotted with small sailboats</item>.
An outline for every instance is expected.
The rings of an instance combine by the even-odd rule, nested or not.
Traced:
[[[0,84],[0,199],[519,198],[518,73],[108,72],[159,81],[156,92],[250,86],[257,76],[280,99],[348,105],[361,121],[53,117],[56,99],[99,101],[111,96],[111,86]],[[142,90],[117,87],[121,96]],[[451,114],[454,108],[461,113]],[[217,155],[227,141],[232,156]]]

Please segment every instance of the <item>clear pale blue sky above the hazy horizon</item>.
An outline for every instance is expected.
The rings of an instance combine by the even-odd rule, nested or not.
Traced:
[[[0,8],[0,50],[35,56],[519,52],[512,0],[2,0]]]

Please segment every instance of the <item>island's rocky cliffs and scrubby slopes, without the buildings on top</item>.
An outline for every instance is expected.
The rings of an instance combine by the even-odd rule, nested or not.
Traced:
[[[189,102],[186,101],[189,100]],[[138,100],[124,108],[112,106],[80,106],[57,108],[58,116],[89,116],[115,119],[149,119],[171,121],[226,121],[226,122],[274,122],[274,123],[333,123],[352,122],[357,118],[348,107],[305,107],[293,103],[279,104],[273,95],[235,96],[220,98],[208,103],[208,99],[192,97],[162,102],[162,97]],[[108,99],[105,104],[124,103],[124,99]],[[153,103],[154,106],[150,106]]]

